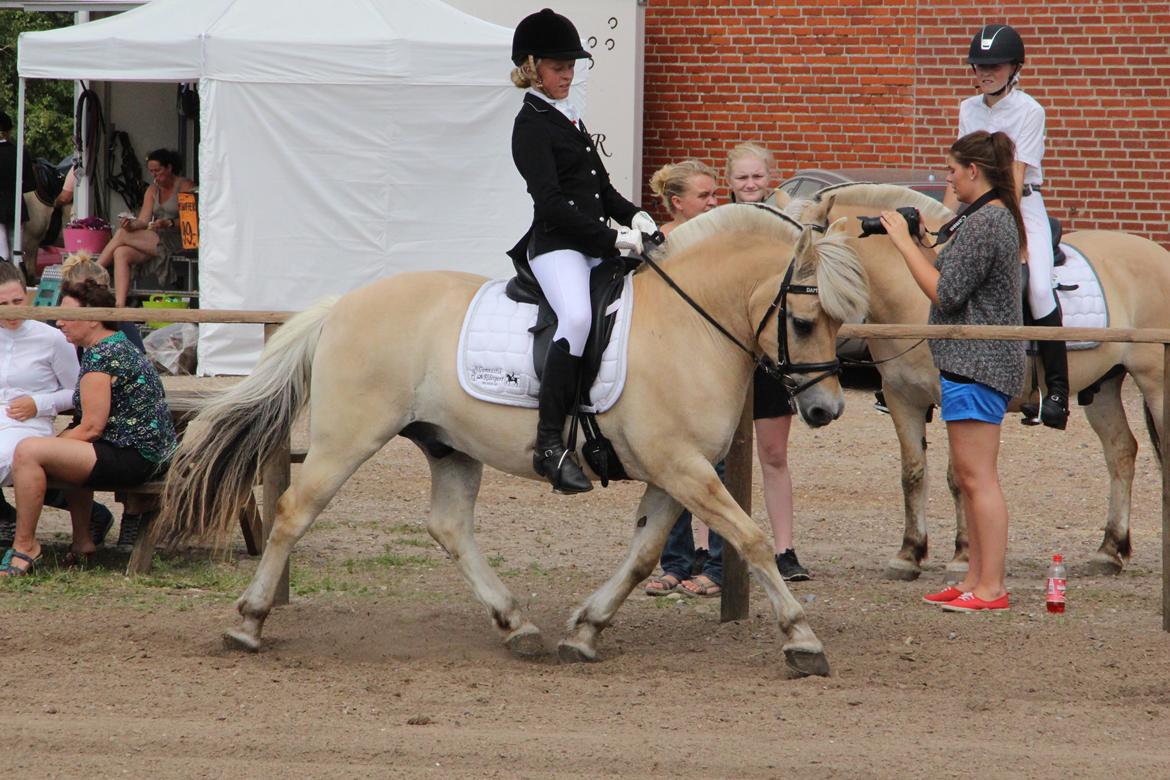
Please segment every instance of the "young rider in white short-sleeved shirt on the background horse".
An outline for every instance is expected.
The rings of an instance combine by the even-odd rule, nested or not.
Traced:
[[[979,95],[969,97],[958,109],[958,134],[976,130],[1004,132],[1016,145],[1012,181],[1016,198],[1027,229],[1027,303],[1031,322],[1059,327],[1060,304],[1052,282],[1052,228],[1044,207],[1040,187],[1044,174],[1045,113],[1035,99],[1017,89],[1024,65],[1024,39],[1006,25],[986,25],[971,40],[968,64],[976,77]],[[948,191],[944,203],[958,207],[955,193]],[[1039,341],[1046,393],[1038,412],[1025,412],[1025,422],[1039,422],[1064,429],[1068,422],[1068,353],[1064,341]]]

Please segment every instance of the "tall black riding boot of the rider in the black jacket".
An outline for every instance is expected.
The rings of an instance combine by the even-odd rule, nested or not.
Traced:
[[[569,353],[569,341],[557,339],[549,347],[541,378],[541,420],[536,426],[536,449],[532,468],[545,477],[552,489],[563,493],[581,493],[593,489],[572,453],[565,450],[565,417],[577,400],[577,380],[581,359]]]

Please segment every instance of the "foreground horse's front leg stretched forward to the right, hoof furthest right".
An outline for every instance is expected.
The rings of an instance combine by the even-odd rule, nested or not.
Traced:
[[[800,603],[780,578],[771,544],[723,486],[715,469],[696,457],[673,469],[665,486],[748,561],[751,573],[768,594],[779,629],[786,637],[783,649],[790,671],[799,676],[827,676],[825,648],[808,624]]]

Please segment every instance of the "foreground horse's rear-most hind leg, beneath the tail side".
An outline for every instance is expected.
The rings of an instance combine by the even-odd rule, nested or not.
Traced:
[[[328,428],[318,426],[315,434],[322,429]],[[343,429],[332,429],[328,435],[314,435],[304,465],[276,502],[276,519],[264,545],[264,554],[248,588],[236,600],[235,606],[243,616],[243,622],[239,628],[223,634],[223,643],[229,649],[260,649],[260,633],[273,609],[276,586],[292,546],[353,471],[392,435],[391,432],[378,429],[369,429],[364,436],[358,436],[355,430],[350,433],[353,435],[346,435]]]

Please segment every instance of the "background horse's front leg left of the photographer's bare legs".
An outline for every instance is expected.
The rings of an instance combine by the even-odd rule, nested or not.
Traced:
[[[894,420],[902,463],[904,530],[902,548],[886,562],[892,580],[915,580],[927,557],[927,409],[908,400],[896,387],[885,387],[886,405]]]

